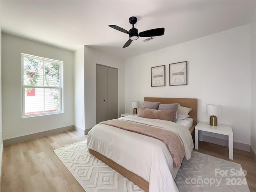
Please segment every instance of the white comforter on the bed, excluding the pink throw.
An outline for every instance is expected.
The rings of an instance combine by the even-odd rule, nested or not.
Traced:
[[[158,119],[126,116],[119,118],[176,132],[183,142],[186,159],[194,148],[189,130],[180,124]],[[171,172],[172,156],[155,138],[120,128],[97,124],[88,132],[87,148],[99,152],[149,182],[149,192],[178,192]]]

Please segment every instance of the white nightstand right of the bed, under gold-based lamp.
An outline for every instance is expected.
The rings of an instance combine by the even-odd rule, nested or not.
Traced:
[[[198,149],[198,130],[227,135],[229,159],[233,160],[233,131],[230,125],[210,126],[209,122],[199,122],[195,127],[195,149]]]

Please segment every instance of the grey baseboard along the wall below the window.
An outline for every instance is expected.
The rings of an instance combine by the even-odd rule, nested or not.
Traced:
[[[20,137],[6,139],[6,140],[4,140],[4,146],[8,146],[8,145],[12,145],[12,144],[16,144],[16,143],[52,135],[52,134],[56,134],[56,133],[60,133],[60,132],[64,132],[64,131],[69,131],[69,130],[74,130],[74,126],[71,125],[71,126],[66,126],[66,127],[61,127],[61,128],[57,128],[57,129],[44,131],[44,132],[39,132],[39,133],[34,133],[34,134],[29,134],[29,135],[24,135],[24,136],[20,136]]]

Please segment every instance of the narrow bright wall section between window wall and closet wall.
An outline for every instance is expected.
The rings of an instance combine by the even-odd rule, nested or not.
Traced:
[[[84,134],[84,46],[74,52],[74,118],[76,130]]]

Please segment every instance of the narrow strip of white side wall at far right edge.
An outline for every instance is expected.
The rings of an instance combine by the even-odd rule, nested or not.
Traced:
[[[251,101],[251,147],[256,154],[256,23],[251,24],[252,101]]]

